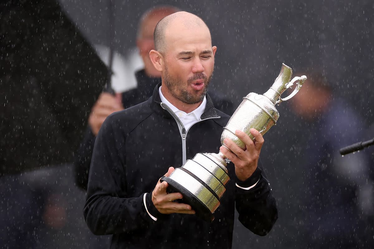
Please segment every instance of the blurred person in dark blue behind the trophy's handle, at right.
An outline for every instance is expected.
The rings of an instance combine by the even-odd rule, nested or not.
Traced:
[[[308,80],[293,98],[292,108],[303,117],[306,160],[306,248],[362,248],[364,212],[372,212],[366,189],[373,183],[364,153],[342,157],[339,149],[361,140],[364,122],[344,100],[335,98],[321,71],[305,69]],[[309,127],[309,128],[308,128]],[[366,211],[365,211],[366,210]],[[366,238],[367,239],[367,238]]]

